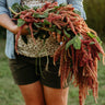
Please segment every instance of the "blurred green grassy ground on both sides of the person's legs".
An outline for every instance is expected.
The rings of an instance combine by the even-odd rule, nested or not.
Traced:
[[[24,105],[23,97],[18,85],[14,84],[8,67],[8,58],[4,56],[4,40],[0,39],[0,105]],[[85,105],[105,105],[105,70],[98,62],[98,104],[95,104],[90,92]],[[70,84],[68,105],[79,105],[78,88]]]

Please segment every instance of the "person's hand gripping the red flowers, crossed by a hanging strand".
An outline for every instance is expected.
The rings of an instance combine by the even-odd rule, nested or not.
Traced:
[[[18,32],[20,31],[21,27],[19,27],[18,25],[13,26],[12,27],[12,33],[13,34],[18,34]],[[21,35],[28,35],[28,31],[27,31],[28,26],[25,25],[23,28],[22,28],[22,32],[21,32]]]

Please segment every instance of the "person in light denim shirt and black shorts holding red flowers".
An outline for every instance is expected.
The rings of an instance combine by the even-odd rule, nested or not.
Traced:
[[[32,57],[32,54],[28,54],[28,49],[25,52],[28,57],[16,55],[14,50],[14,34],[18,34],[20,27],[15,23],[11,21],[11,12],[9,11],[9,7],[12,7],[13,3],[22,3],[30,4],[30,1],[39,1],[39,0],[0,0],[0,25],[7,28],[7,45],[5,45],[5,55],[10,60],[10,68],[14,78],[15,83],[19,85],[22,95],[24,97],[26,105],[67,105],[68,103],[68,92],[69,92],[69,83],[66,88],[60,88],[60,77],[58,77],[58,67],[59,61],[57,62],[57,67],[52,65],[52,49],[51,52],[35,52],[35,58]],[[43,0],[44,1],[44,0]],[[48,0],[46,0],[48,1]],[[52,0],[49,0],[52,1]],[[55,0],[60,3],[71,3],[75,9],[81,12],[81,16],[85,20],[85,12],[83,10],[83,0]],[[39,3],[39,2],[38,2]],[[27,35],[28,32],[24,27],[22,30],[22,35]],[[21,38],[20,38],[21,42]],[[24,48],[22,49],[22,42],[19,42],[19,51],[20,54],[24,52]],[[55,40],[52,40],[55,43]],[[37,40],[36,49],[42,48],[42,42]],[[50,42],[47,42],[47,45],[50,45]],[[59,45],[57,42],[55,43],[57,46]],[[55,44],[51,46],[55,50]],[[47,46],[46,45],[46,46]],[[40,46],[40,47],[39,47]],[[48,47],[48,46],[47,46]],[[45,47],[46,48],[46,47]],[[50,50],[50,49],[49,49]],[[31,56],[31,57],[30,57]],[[48,56],[49,63],[48,70],[46,68],[46,61]],[[37,59],[36,59],[37,58]],[[37,62],[35,65],[35,61]],[[42,68],[40,68],[42,66]],[[37,68],[37,70],[36,70]],[[42,69],[42,70],[38,70]],[[42,72],[43,74],[42,74]]]

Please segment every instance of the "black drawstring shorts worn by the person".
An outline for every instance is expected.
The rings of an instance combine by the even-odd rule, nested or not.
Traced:
[[[49,62],[47,66],[47,61]],[[40,81],[49,88],[60,89],[60,77],[58,75],[59,61],[54,66],[52,57],[28,58],[16,56],[9,60],[12,75],[18,85],[25,85]],[[66,88],[69,85],[67,83]]]

